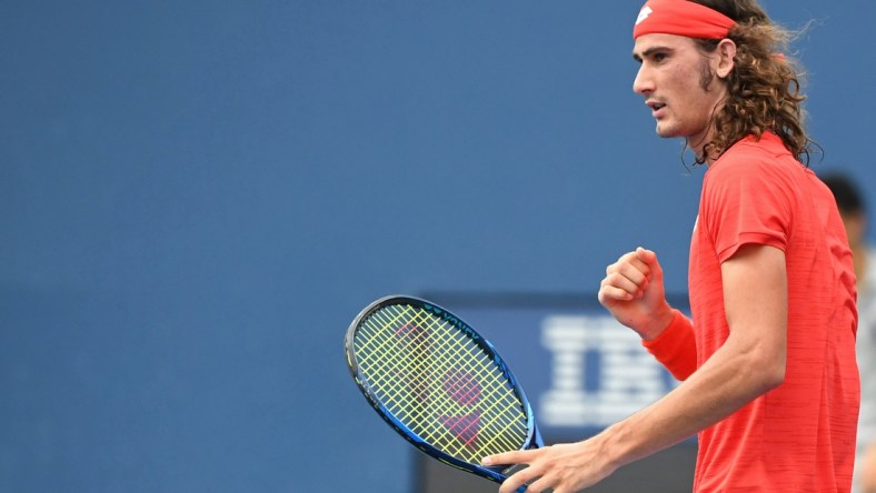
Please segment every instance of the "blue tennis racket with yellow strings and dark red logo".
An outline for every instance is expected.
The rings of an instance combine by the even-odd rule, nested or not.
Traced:
[[[375,301],[350,324],[345,349],[380,417],[446,464],[501,483],[519,469],[486,467],[482,457],[544,446],[529,401],[492,344],[435,303]]]

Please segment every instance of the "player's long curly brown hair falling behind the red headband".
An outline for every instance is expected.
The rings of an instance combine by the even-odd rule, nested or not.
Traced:
[[[736,21],[727,36],[736,43],[735,68],[724,80],[725,104],[713,115],[714,137],[700,158],[720,155],[747,135],[759,138],[765,131],[776,133],[800,162],[808,163],[813,145],[807,134],[802,108],[800,71],[796,61],[784,53],[792,32],[775,24],[756,0],[688,0]],[[697,40],[707,53],[720,40]],[[714,76],[711,76],[714,77]],[[711,77],[706,74],[704,83]]]

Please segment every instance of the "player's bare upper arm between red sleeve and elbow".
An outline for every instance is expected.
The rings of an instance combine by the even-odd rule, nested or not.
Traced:
[[[784,379],[787,353],[787,269],[785,252],[747,244],[721,263],[724,306],[737,350],[770,380]]]

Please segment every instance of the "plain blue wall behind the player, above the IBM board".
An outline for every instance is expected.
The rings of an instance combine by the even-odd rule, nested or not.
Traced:
[[[6,2],[0,490],[406,492],[342,358],[374,298],[590,295],[638,244],[683,291],[639,6]],[[876,4],[766,7],[874,202]]]

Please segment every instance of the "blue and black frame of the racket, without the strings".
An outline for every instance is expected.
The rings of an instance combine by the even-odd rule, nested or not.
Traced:
[[[490,481],[495,481],[496,483],[502,483],[506,479],[508,479],[509,470],[514,469],[506,467],[502,465],[498,466],[482,466],[480,464],[472,464],[470,462],[460,461],[445,452],[436,449],[435,446],[430,445],[426,440],[415,433],[412,430],[402,424],[381,402],[377,399],[375,392],[371,391],[368,382],[361,375],[359,371],[359,364],[356,360],[356,351],[354,348],[354,341],[356,339],[356,332],[361,326],[362,322],[371,316],[378,310],[381,310],[388,305],[398,305],[398,304],[409,304],[412,306],[418,306],[427,312],[432,313],[436,316],[439,316],[445,322],[454,325],[466,335],[468,335],[471,341],[477,344],[480,349],[482,349],[487,354],[492,358],[492,361],[499,368],[501,373],[508,379],[510,383],[511,390],[520,400],[522,404],[525,414],[526,414],[526,427],[527,427],[527,437],[524,442],[524,446],[519,450],[529,450],[529,449],[540,449],[545,446],[544,441],[541,439],[541,434],[538,431],[538,426],[535,421],[535,416],[532,415],[532,408],[529,404],[529,400],[526,398],[526,393],[524,392],[522,386],[517,381],[517,378],[511,373],[508,369],[508,365],[505,363],[505,360],[501,359],[499,353],[496,351],[496,348],[486,339],[484,339],[480,334],[477,333],[470,325],[464,322],[461,319],[456,316],[452,312],[448,311],[445,308],[439,306],[436,303],[432,303],[427,300],[422,300],[416,296],[409,295],[390,295],[381,298],[377,301],[374,301],[371,304],[366,306],[359,314],[354,319],[352,323],[350,324],[349,329],[347,330],[347,335],[345,336],[344,346],[345,352],[347,355],[347,366],[350,370],[350,374],[352,375],[354,380],[356,381],[357,386],[361,391],[365,399],[371,405],[371,408],[384,419],[398,434],[400,434],[405,440],[410,442],[414,446],[419,449],[421,452],[428,454],[431,457],[435,457],[447,465],[452,467],[469,472],[471,474],[477,474],[481,477],[486,477]],[[526,486],[521,486],[518,489],[519,492],[526,490]]]

